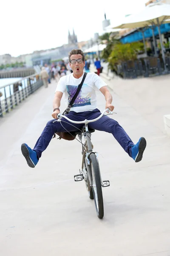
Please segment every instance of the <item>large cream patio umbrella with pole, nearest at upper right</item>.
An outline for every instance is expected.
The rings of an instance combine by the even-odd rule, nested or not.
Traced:
[[[170,19],[170,5],[164,3],[156,3],[146,6],[144,10],[137,14],[130,15],[125,18],[124,22],[114,27],[113,29],[125,29],[125,28],[143,28],[146,26],[157,26],[159,31],[159,39],[161,43],[161,53],[164,62],[164,68],[166,70],[165,55],[160,31],[160,25],[163,23],[169,23],[167,19]]]

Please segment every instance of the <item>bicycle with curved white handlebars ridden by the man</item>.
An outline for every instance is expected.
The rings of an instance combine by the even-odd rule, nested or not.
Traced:
[[[84,142],[82,143],[82,168],[79,169],[80,174],[74,175],[75,181],[85,180],[86,189],[89,194],[90,199],[94,199],[97,216],[99,218],[103,218],[104,216],[104,207],[103,207],[103,196],[102,196],[102,187],[110,186],[109,180],[103,180],[101,178],[100,169],[99,169],[99,161],[98,161],[98,153],[93,152],[93,144],[91,143],[91,134],[95,131],[94,129],[88,129],[88,123],[95,122],[99,120],[105,112],[108,114],[113,114],[109,110],[109,108],[105,109],[100,116],[95,119],[84,121],[73,121],[69,119],[67,116],[58,114],[57,120],[54,122],[62,122],[62,118],[64,117],[69,122],[75,124],[85,124],[82,130],[75,131],[74,135],[78,135],[79,140],[82,143],[82,138],[84,138]],[[71,132],[73,135],[73,132]]]

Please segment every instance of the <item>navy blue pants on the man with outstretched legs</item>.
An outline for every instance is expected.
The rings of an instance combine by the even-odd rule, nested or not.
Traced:
[[[82,121],[85,119],[94,119],[98,117],[101,112],[96,108],[93,111],[84,111],[84,112],[74,112],[70,111],[67,114],[67,117],[74,121]],[[37,143],[34,146],[34,151],[37,152],[38,159],[41,157],[42,152],[47,148],[50,143],[55,132],[64,132],[65,129],[62,125],[67,129],[67,131],[77,131],[78,129],[82,129],[84,124],[74,124],[68,122],[66,119],[62,118],[62,125],[60,122],[53,123],[55,119],[48,121],[40,138],[37,140]],[[63,122],[65,121],[65,122]],[[72,126],[74,125],[74,126]],[[77,129],[78,128],[78,129]],[[125,130],[119,125],[117,121],[111,119],[108,116],[102,116],[98,121],[91,122],[88,124],[88,128],[95,129],[98,131],[106,131],[108,133],[113,134],[115,139],[119,142],[122,148],[129,154],[131,157],[131,147],[134,145],[130,137],[127,135]]]

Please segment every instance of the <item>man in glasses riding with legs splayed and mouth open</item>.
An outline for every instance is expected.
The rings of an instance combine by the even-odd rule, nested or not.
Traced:
[[[60,113],[59,107],[63,93],[65,93],[65,103],[66,105],[69,105],[84,75],[83,69],[85,67],[85,55],[82,50],[73,49],[69,53],[68,57],[69,65],[73,70],[73,73],[59,79],[53,101],[54,111],[52,113],[52,117],[54,119],[57,119],[57,115]],[[112,105],[112,95],[106,86],[107,84],[95,73],[87,73],[82,88],[74,104],[72,105],[70,112],[67,114],[67,117],[74,121],[82,121],[84,119],[89,120],[98,117],[101,113],[97,109],[97,89],[99,89],[105,96],[105,108],[109,108],[111,111],[113,111],[114,106]],[[83,124],[75,124],[72,126],[69,121],[64,122],[64,125],[61,125],[60,122],[54,122],[54,119],[48,121],[33,149],[31,149],[26,143],[21,145],[21,151],[23,156],[26,158],[29,167],[34,168],[37,165],[42,152],[47,148],[56,132],[71,132],[75,131],[76,128],[79,130],[83,127]],[[106,131],[113,134],[122,148],[127,152],[127,154],[129,154],[130,157],[133,158],[133,160],[135,160],[135,162],[142,160],[143,152],[146,148],[146,140],[144,137],[141,137],[138,143],[134,145],[130,137],[119,125],[119,123],[108,116],[102,116],[102,118],[96,122],[89,123],[88,127],[90,129]]]

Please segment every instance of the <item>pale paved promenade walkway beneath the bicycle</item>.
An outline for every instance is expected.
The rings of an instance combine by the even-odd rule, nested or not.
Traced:
[[[40,88],[0,122],[0,255],[170,256],[170,138],[136,108],[137,102],[133,106],[133,97],[122,96],[120,87],[129,87],[128,81],[115,84],[110,84],[116,91],[113,118],[135,143],[144,136],[147,148],[135,163],[111,134],[92,135],[102,179],[111,183],[103,188],[102,220],[84,181],[74,182],[81,166],[76,140],[51,140],[35,169],[21,154],[21,143],[33,147],[51,119],[56,84]],[[97,98],[102,111],[104,96]]]

